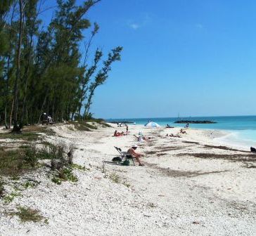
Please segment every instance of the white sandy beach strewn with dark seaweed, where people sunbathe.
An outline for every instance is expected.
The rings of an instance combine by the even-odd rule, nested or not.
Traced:
[[[46,140],[74,143],[74,162],[87,170],[76,169],[78,182],[61,185],[51,181],[49,167],[26,173],[17,184],[27,178],[39,184],[10,204],[0,201],[0,235],[256,235],[256,155],[248,147],[226,147],[220,131],[186,129],[174,138],[166,134],[178,128],[131,125],[127,136],[113,137],[125,128],[112,126],[93,132],[53,126],[57,135]],[[139,131],[152,139],[137,142]],[[132,145],[145,166],[103,164],[118,156],[114,146]],[[5,214],[17,206],[38,209],[47,223]]]

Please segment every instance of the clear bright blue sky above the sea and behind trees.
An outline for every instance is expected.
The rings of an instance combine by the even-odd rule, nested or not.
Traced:
[[[255,12],[253,0],[102,0],[87,15],[100,26],[92,48],[124,49],[94,117],[256,114]]]

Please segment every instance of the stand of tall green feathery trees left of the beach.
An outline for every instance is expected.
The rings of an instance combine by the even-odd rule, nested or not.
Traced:
[[[40,0],[23,1],[21,6],[19,1],[0,1],[0,123],[10,127],[12,119],[18,132],[25,124],[39,122],[42,112],[51,114],[55,122],[91,118],[94,92],[108,79],[111,65],[120,60],[122,51],[116,47],[106,58],[98,48],[89,53],[99,26],[91,25],[87,13],[98,2],[58,0],[51,22],[42,27]],[[84,32],[89,28],[87,37]],[[82,55],[79,46],[84,39]],[[94,55],[91,64],[89,54]],[[79,125],[81,130],[87,128]],[[22,138],[31,141],[37,137]]]

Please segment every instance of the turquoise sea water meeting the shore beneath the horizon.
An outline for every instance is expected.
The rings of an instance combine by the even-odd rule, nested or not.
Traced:
[[[181,118],[179,118],[181,119]],[[210,120],[217,124],[189,124],[194,129],[217,129],[231,131],[229,140],[240,145],[256,145],[256,116],[236,116],[236,117],[182,117],[186,120]],[[174,124],[178,118],[134,118],[134,119],[108,119],[111,121],[127,121],[136,124],[146,124],[149,120],[157,122],[160,126],[169,124],[175,127],[184,127],[185,124]]]

